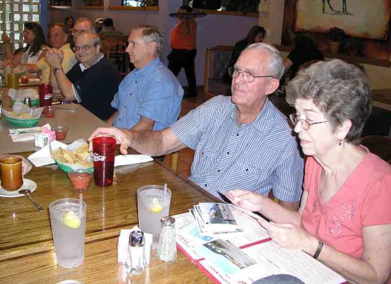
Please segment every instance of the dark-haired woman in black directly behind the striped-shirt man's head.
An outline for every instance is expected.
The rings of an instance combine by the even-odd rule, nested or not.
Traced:
[[[263,27],[256,25],[249,30],[247,36],[244,39],[240,40],[235,44],[234,51],[232,51],[231,60],[227,67],[227,72],[225,72],[224,75],[225,83],[231,84],[232,82],[232,77],[228,74],[228,68],[234,66],[234,64],[239,58],[240,52],[242,52],[243,49],[246,48],[249,44],[261,43],[265,36],[266,30]]]

